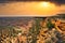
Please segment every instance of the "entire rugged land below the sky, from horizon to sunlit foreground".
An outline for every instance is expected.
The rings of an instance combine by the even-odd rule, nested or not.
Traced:
[[[3,43],[8,38],[8,41],[15,38],[18,40],[13,42],[63,43],[65,41],[64,16],[65,14],[49,17],[0,17],[0,41]]]

